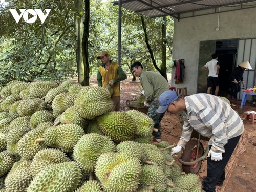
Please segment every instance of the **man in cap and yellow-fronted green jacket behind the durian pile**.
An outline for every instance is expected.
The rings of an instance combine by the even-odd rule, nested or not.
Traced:
[[[111,96],[113,101],[112,111],[120,109],[120,88],[119,82],[127,78],[123,69],[115,62],[112,62],[110,55],[106,51],[99,52],[97,59],[100,59],[101,66],[97,72],[97,82],[99,87],[112,86],[114,92]]]

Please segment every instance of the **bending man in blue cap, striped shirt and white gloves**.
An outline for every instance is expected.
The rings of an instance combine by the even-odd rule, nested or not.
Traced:
[[[210,138],[207,176],[202,185],[205,192],[215,192],[216,185],[223,185],[225,166],[244,131],[238,113],[226,101],[206,93],[179,98],[176,92],[165,91],[159,97],[159,105],[158,113],[181,111],[184,120],[181,138],[171,155],[185,148],[193,129]]]

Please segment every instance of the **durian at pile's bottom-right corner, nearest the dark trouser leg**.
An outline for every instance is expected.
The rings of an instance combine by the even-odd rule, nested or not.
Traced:
[[[176,187],[187,191],[201,186],[198,175],[196,174],[182,174],[173,181]]]

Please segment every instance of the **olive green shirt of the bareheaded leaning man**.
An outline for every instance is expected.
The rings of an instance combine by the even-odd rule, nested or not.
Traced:
[[[169,90],[167,80],[154,71],[142,70],[140,82],[145,92],[146,100],[155,101],[164,92]]]

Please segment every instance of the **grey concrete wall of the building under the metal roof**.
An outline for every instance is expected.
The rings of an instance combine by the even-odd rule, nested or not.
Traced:
[[[173,59],[185,59],[186,68],[183,83],[175,84],[173,77],[176,68],[173,67],[172,86],[187,87],[188,95],[196,93],[200,41],[255,38],[256,8],[220,13],[219,31],[216,31],[217,26],[218,13],[182,18],[179,21],[175,19]]]

